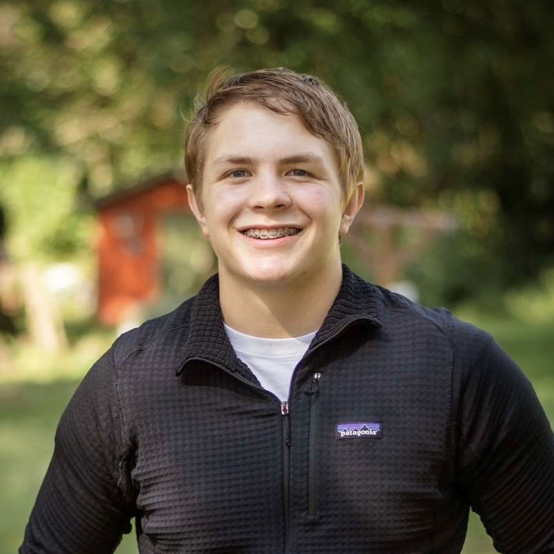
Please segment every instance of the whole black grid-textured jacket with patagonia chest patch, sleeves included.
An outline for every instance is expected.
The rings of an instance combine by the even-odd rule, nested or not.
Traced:
[[[245,317],[248,310],[245,308]],[[288,405],[224,332],[217,276],[123,334],[65,410],[21,554],[554,553],[554,440],[488,334],[348,268]]]

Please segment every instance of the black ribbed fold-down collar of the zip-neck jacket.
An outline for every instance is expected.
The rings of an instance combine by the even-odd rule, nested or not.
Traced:
[[[317,332],[310,349],[332,339],[353,323],[381,327],[376,288],[343,265],[343,280],[337,298]],[[242,364],[231,348],[223,326],[219,278],[210,277],[193,301],[189,337],[179,356],[177,375],[193,360],[204,360],[240,372]]]

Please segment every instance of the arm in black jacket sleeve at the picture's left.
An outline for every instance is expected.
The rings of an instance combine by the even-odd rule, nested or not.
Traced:
[[[107,554],[129,532],[131,460],[107,352],[61,417],[20,554]]]

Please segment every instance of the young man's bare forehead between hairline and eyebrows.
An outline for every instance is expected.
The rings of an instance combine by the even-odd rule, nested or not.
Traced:
[[[311,134],[297,114],[277,114],[255,102],[224,108],[206,134],[206,164],[225,156],[287,157],[299,149],[337,162],[330,144]]]

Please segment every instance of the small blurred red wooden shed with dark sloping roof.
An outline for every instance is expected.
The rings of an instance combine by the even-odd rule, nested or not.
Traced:
[[[102,323],[136,323],[170,310],[209,273],[211,250],[191,215],[179,171],[100,198],[96,209]]]

